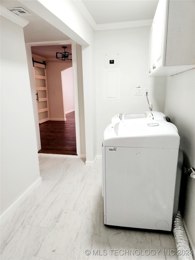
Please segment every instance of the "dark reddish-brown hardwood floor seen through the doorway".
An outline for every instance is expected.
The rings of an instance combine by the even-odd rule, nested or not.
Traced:
[[[74,111],[66,114],[66,121],[47,121],[39,128],[41,150],[38,153],[77,155]]]

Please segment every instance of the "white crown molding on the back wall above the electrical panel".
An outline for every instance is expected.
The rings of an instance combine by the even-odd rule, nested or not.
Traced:
[[[98,30],[110,30],[110,29],[121,29],[129,27],[149,26],[152,25],[153,19],[134,20],[119,23],[101,23],[97,24],[96,31]]]

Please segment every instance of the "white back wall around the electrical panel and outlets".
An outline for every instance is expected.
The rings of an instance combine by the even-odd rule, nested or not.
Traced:
[[[112,116],[122,112],[149,111],[147,98],[135,96],[134,88],[149,87],[153,110],[164,111],[166,78],[148,77],[150,26],[95,32],[95,82],[97,106],[97,154],[101,155],[103,133]],[[104,99],[105,54],[119,53],[120,100]]]

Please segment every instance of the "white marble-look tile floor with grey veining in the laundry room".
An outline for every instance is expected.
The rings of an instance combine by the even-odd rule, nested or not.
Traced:
[[[104,225],[101,161],[39,162],[41,185],[1,225],[1,259],[178,259],[172,233]]]

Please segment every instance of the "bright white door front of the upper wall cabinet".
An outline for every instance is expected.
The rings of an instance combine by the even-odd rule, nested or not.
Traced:
[[[151,74],[165,63],[166,27],[168,1],[159,1],[151,27]]]

